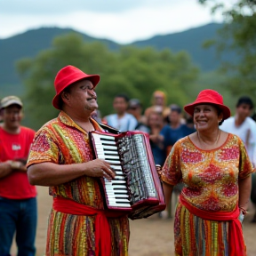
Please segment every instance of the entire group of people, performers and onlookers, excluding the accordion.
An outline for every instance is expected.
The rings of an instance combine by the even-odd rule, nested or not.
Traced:
[[[220,93],[209,89],[184,108],[168,106],[165,93],[156,91],[144,112],[140,99],[117,94],[115,113],[100,116],[99,82],[99,75],[61,68],[52,100],[60,114],[37,132],[20,125],[18,97],[1,100],[0,255],[10,255],[15,233],[18,256],[36,255],[36,185],[49,187],[53,197],[46,256],[128,255],[128,215],[104,208],[98,182],[116,173],[108,161],[94,159],[89,140],[89,132],[109,125],[148,134],[155,164],[163,166],[166,209],[178,191],[176,255],[245,256],[242,222],[250,196],[256,204],[252,100],[240,98],[231,116]]]

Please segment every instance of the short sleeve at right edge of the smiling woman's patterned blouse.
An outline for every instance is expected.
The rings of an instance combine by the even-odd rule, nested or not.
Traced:
[[[239,139],[239,149],[240,149],[240,162],[239,162],[239,179],[246,178],[249,174],[251,174],[254,169],[252,166],[252,162],[247,154],[244,142]]]

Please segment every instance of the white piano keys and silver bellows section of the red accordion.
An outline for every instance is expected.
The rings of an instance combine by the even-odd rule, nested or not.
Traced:
[[[108,133],[107,133],[108,134]],[[92,133],[94,149],[100,159],[107,161],[116,172],[114,180],[103,178],[108,208],[130,209],[132,205],[158,203],[144,134]],[[146,201],[145,201],[146,200]]]

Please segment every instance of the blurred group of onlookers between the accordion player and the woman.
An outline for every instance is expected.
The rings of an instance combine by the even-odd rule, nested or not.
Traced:
[[[163,165],[174,143],[196,131],[193,125],[189,125],[190,116],[186,116],[188,122],[183,117],[180,106],[176,104],[166,106],[166,95],[161,91],[153,93],[152,106],[146,108],[144,113],[140,100],[129,100],[125,94],[116,95],[113,108],[114,114],[102,118],[98,116],[98,120],[115,127],[120,132],[148,133],[156,164]]]

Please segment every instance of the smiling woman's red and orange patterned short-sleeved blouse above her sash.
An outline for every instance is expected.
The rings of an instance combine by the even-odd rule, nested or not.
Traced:
[[[181,193],[204,211],[233,211],[238,180],[253,172],[243,141],[229,133],[220,148],[203,150],[185,137],[177,141],[164,164],[164,182],[185,184]]]

